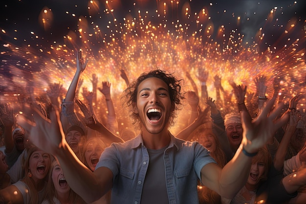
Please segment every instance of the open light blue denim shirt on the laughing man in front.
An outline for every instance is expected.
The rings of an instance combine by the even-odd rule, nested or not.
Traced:
[[[113,143],[104,150],[96,169],[103,166],[113,173],[112,204],[140,204],[149,162],[141,135],[125,143]],[[171,135],[164,162],[169,204],[198,204],[197,180],[201,169],[216,162],[209,151],[198,142]]]

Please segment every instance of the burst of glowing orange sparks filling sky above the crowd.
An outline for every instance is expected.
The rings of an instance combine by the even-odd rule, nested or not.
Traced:
[[[113,97],[118,99],[113,100],[118,102],[116,107],[120,107],[120,94],[126,88],[120,77],[122,68],[130,80],[156,67],[177,72],[191,89],[188,71],[199,90],[197,73],[204,68],[209,72],[207,88],[213,98],[215,75],[221,76],[228,92],[232,81],[246,84],[248,91],[255,92],[254,78],[265,75],[269,95],[277,75],[283,79],[282,91],[287,97],[304,93],[306,23],[305,17],[292,12],[302,2],[285,7],[276,6],[275,1],[262,19],[261,9],[244,12],[242,5],[235,5],[241,12],[215,1],[152,2],[90,0],[82,4],[87,8],[82,14],[81,5],[69,5],[60,15],[74,23],[65,27],[55,23],[59,15],[55,15],[56,7],[48,6],[37,16],[41,28],[26,32],[21,23],[8,19],[14,26],[3,27],[0,33],[0,102],[18,101],[13,94],[26,93],[27,86],[35,87],[37,96],[44,95],[53,83],[67,89],[80,48],[89,58],[83,86],[91,90],[93,73],[100,82],[109,81]],[[256,21],[262,22],[260,26],[254,27]],[[66,31],[61,38],[55,37],[59,29]],[[82,94],[79,97],[83,98]]]

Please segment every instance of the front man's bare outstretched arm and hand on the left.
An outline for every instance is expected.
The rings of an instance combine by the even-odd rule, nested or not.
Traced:
[[[49,118],[30,106],[23,111],[18,117],[19,124],[30,132],[30,140],[37,147],[58,159],[69,186],[86,203],[98,200],[111,189],[112,172],[104,167],[92,172],[77,158],[66,142],[59,113],[54,108],[49,108]]]

